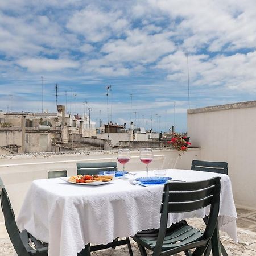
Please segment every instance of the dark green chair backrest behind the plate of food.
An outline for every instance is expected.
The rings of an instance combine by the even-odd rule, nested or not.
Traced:
[[[98,174],[100,171],[117,171],[116,162],[77,163],[77,174]]]

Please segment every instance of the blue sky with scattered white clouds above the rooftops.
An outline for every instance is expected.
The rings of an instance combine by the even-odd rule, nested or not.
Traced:
[[[254,0],[0,1],[0,109],[55,113],[57,98],[97,125],[187,131],[189,108],[256,100],[255,13]]]

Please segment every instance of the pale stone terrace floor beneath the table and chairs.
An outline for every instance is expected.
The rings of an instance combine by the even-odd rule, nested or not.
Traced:
[[[221,242],[223,243],[228,255],[237,256],[255,256],[256,255],[256,210],[237,208],[237,234],[239,242],[236,244],[224,232],[220,232]],[[203,221],[193,219],[188,221],[189,224],[200,228]],[[136,243],[131,239],[134,256],[139,256],[139,250]],[[14,249],[8,238],[0,239],[0,256],[13,255]],[[115,250],[106,249],[93,252],[92,256],[126,256],[129,255],[127,246],[119,246]],[[151,253],[148,253],[151,255]],[[185,255],[184,253],[176,254],[176,256]]]

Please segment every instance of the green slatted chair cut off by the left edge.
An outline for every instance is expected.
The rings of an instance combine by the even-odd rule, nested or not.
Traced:
[[[0,199],[3,216],[5,218],[6,230],[9,234],[11,243],[18,254],[18,256],[30,256],[30,255],[48,255],[47,244],[43,244],[41,241],[33,237],[27,230],[19,231],[15,221],[15,215],[13,208],[6,192],[3,181],[0,178]]]

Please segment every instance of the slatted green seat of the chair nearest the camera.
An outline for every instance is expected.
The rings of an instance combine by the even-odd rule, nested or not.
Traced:
[[[156,241],[158,238],[159,229],[151,229],[135,234],[133,239],[135,241],[140,240],[141,244],[150,249],[154,250]],[[187,245],[188,243],[196,242],[204,236],[204,232],[200,229],[193,228],[192,226],[186,225],[184,223],[179,223],[179,225],[173,225],[166,231],[166,236],[164,237],[162,251],[170,250],[172,248],[177,248],[177,246]],[[207,240],[205,240],[205,244]],[[204,245],[200,241],[200,246]]]

